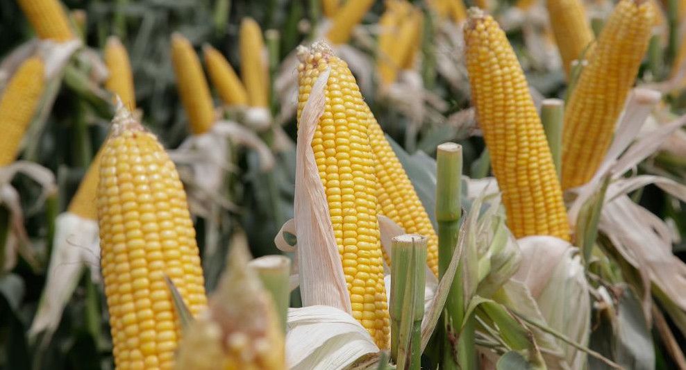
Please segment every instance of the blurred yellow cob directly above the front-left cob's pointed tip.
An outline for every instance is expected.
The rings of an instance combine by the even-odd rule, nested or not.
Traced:
[[[105,63],[110,75],[105,81],[105,87],[112,94],[119,95],[122,103],[129,110],[136,108],[136,96],[133,88],[133,72],[128,60],[126,47],[119,41],[119,37],[110,36],[105,45]]]

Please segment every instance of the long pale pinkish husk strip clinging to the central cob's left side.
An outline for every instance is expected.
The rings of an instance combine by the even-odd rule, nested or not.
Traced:
[[[299,238],[300,291],[303,306],[329,305],[351,313],[328,202],[312,151],[312,138],[324,114],[324,89],[330,73],[331,69],[322,72],[312,86],[298,129],[294,218]]]

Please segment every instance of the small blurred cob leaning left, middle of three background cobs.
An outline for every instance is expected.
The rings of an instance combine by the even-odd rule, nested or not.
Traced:
[[[203,54],[210,81],[219,92],[221,100],[229,106],[246,106],[248,93],[228,60],[209,44],[203,45]]]

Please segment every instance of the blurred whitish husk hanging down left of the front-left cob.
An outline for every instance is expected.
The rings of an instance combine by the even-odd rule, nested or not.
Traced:
[[[55,229],[45,287],[28,330],[30,339],[38,333],[51,337],[60,324],[62,311],[81,280],[83,269],[90,269],[92,280],[99,281],[101,278],[97,221],[65,212],[55,219]]]

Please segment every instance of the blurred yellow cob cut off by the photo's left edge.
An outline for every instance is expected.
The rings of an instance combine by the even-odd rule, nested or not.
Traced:
[[[17,158],[19,144],[45,87],[44,65],[29,58],[17,69],[0,97],[0,167]]]

